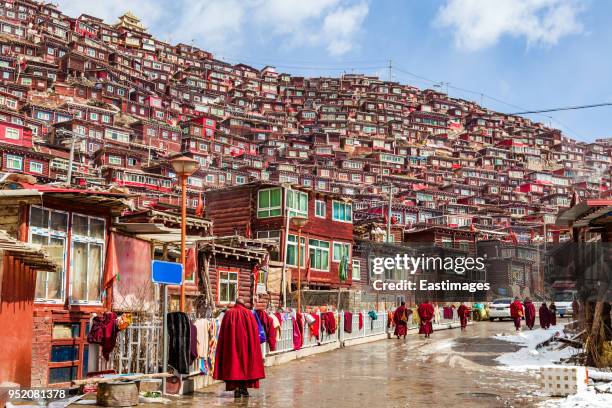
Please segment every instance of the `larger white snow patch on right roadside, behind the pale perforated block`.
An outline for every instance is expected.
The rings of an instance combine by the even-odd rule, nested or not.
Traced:
[[[501,369],[511,371],[539,370],[540,367],[551,365],[562,358],[570,357],[577,350],[567,347],[560,351],[552,350],[551,347],[542,347],[536,350],[536,346],[550,339],[555,333],[563,333],[563,325],[552,326],[548,330],[535,329],[524,330],[512,335],[497,335],[496,339],[515,343],[523,346],[520,350],[505,353],[497,357],[502,364]],[[555,347],[557,347],[555,345]]]

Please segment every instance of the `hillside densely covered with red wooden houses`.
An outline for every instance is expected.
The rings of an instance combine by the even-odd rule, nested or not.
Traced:
[[[460,279],[491,291],[466,300],[544,294],[541,246],[569,238],[557,214],[612,196],[612,139],[573,140],[374,76],[232,65],[155,38],[131,12],[105,22],[1,0],[7,378],[67,385],[99,368],[87,340],[96,313],[159,317],[150,265],[179,259],[178,156],[199,163],[187,179],[194,313],[238,297],[295,306],[302,287],[307,307],[414,304],[414,294],[375,294],[370,260],[425,250],[489,254],[486,276]],[[176,288],[170,296],[177,309]]]

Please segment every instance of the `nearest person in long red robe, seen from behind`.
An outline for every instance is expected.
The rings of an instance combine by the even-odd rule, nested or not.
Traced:
[[[213,378],[225,381],[235,397],[248,397],[247,388],[259,388],[265,376],[257,320],[237,299],[221,320]]]

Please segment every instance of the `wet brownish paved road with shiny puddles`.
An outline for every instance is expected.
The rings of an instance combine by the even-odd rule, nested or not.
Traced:
[[[511,322],[476,323],[318,354],[266,369],[261,388],[234,400],[223,385],[183,399],[187,406],[244,407],[529,407],[533,374],[500,370],[495,358],[517,346],[491,338]]]

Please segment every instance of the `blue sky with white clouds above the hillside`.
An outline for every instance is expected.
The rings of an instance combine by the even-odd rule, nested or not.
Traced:
[[[275,65],[295,75],[346,71],[387,79],[391,59],[396,81],[421,88],[448,82],[451,96],[482,99],[504,112],[612,101],[612,2],[607,0],[59,4],[68,15],[85,12],[111,23],[131,10],[161,39],[193,42],[229,62]],[[611,113],[612,107],[602,107],[531,118],[591,141],[612,137]]]

